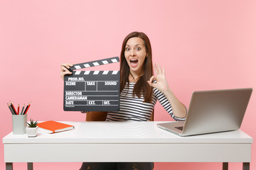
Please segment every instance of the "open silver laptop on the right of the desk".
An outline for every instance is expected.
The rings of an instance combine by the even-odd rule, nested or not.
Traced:
[[[180,136],[238,130],[251,94],[252,88],[194,91],[185,121],[157,126]]]

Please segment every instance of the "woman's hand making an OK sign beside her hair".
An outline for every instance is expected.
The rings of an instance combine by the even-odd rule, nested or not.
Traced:
[[[160,64],[154,64],[156,76],[152,76],[149,81],[150,86],[159,89],[162,93],[169,90],[169,85],[166,81],[164,67],[161,68]]]

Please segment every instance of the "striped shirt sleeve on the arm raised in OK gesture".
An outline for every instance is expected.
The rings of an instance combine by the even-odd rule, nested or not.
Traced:
[[[154,91],[154,95],[161,103],[161,106],[163,106],[164,109],[169,113],[169,115],[171,115],[171,118],[174,118],[174,120],[176,121],[186,120],[186,118],[178,118],[176,115],[174,115],[173,110],[171,108],[171,103],[169,103],[166,96],[161,91],[159,91],[159,89],[154,88],[153,91]]]

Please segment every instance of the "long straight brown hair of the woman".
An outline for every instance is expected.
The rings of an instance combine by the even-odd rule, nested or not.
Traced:
[[[151,44],[150,44],[149,38],[144,33],[133,32],[133,33],[129,33],[129,35],[127,35],[127,37],[124,38],[124,41],[122,43],[122,51],[120,55],[120,75],[121,75],[120,91],[124,89],[125,84],[128,83],[128,86],[129,86],[130,72],[129,72],[129,65],[127,63],[127,60],[125,60],[125,57],[124,57],[124,50],[125,50],[127,41],[130,38],[134,38],[134,37],[142,38],[142,40],[144,41],[144,45],[146,47],[147,55],[143,65],[144,74],[141,77],[139,77],[138,81],[136,82],[134,86],[133,95],[136,95],[139,98],[141,97],[141,95],[143,95],[144,102],[151,102],[153,89],[151,86],[149,86],[147,81],[150,79],[150,77],[153,76],[152,50],[151,50]]]

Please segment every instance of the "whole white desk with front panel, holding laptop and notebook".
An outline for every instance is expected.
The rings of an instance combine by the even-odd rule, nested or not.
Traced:
[[[243,162],[250,169],[252,137],[242,130],[179,137],[160,122],[64,122],[75,130],[3,138],[6,169],[13,162]]]

